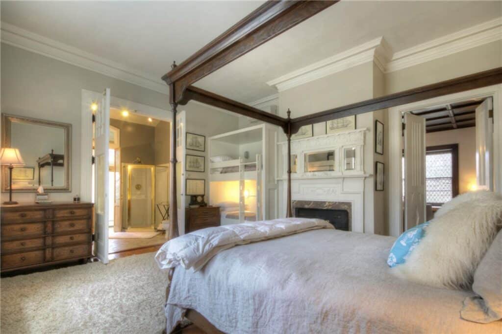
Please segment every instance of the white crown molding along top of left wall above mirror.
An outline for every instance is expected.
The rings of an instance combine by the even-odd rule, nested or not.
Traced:
[[[31,33],[9,23],[0,23],[2,43],[84,68],[108,77],[126,81],[162,94],[168,88],[161,78],[112,62],[49,38]]]

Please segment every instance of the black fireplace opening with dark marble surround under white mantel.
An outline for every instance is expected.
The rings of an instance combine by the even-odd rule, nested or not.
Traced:
[[[351,230],[350,202],[293,201],[292,206],[295,217],[326,219],[338,230]]]

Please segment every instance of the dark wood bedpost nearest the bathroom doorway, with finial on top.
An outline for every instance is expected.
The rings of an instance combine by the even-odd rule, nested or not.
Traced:
[[[173,62],[171,69],[176,67],[176,62]],[[171,105],[171,111],[173,113],[173,123],[171,125],[171,198],[170,198],[170,219],[171,224],[169,224],[169,239],[176,238],[180,235],[178,231],[178,194],[176,187],[176,108],[178,104],[175,101],[174,95],[174,83],[169,85],[169,104]]]

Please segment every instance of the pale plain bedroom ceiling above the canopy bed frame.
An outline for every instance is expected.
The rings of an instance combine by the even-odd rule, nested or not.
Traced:
[[[261,4],[263,1],[4,1],[1,19],[160,78],[173,60],[181,63]],[[249,103],[276,93],[267,81],[380,36],[397,52],[501,14],[499,1],[342,1],[196,86]]]

